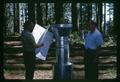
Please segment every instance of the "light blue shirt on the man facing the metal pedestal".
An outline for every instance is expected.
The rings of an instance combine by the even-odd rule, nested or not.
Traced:
[[[102,34],[95,29],[94,32],[88,32],[85,37],[85,48],[96,49],[98,46],[103,44]]]

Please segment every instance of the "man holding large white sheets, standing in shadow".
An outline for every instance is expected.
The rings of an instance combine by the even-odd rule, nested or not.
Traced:
[[[35,69],[35,48],[42,47],[43,44],[36,44],[32,35],[34,27],[33,22],[26,21],[24,24],[24,31],[22,32],[21,39],[23,44],[23,58],[25,64],[25,77],[26,79],[33,79]]]

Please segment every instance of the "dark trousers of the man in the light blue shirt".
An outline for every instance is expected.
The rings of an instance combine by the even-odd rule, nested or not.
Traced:
[[[96,60],[95,60],[96,59]],[[85,79],[98,79],[98,58],[96,57],[96,50],[85,50]]]

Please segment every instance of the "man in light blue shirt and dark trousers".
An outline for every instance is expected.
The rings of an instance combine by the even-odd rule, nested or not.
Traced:
[[[97,24],[90,21],[90,32],[85,37],[85,79],[98,79],[98,54],[103,44],[103,37]]]

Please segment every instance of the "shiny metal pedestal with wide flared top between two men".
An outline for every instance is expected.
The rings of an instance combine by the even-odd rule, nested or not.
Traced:
[[[70,25],[68,25],[70,26]],[[69,59],[69,30],[67,24],[59,24],[55,26],[56,36],[56,57],[57,61],[54,66],[54,79],[64,80],[71,79],[72,63]],[[55,30],[56,30],[55,28]]]

